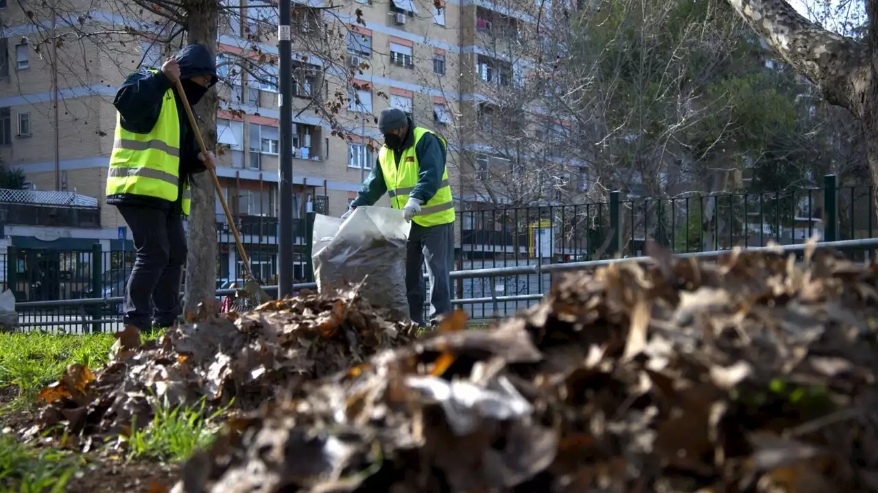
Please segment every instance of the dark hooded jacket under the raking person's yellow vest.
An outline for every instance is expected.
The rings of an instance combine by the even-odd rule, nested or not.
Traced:
[[[176,61],[180,65],[180,81],[183,82],[186,99],[194,105],[205,96],[207,90],[189,79],[198,75],[211,75],[209,84],[212,87],[217,83],[216,59],[212,57],[207,48],[202,45],[185,46],[180,53],[176,54]],[[168,80],[162,71],[152,74],[147,70],[141,70],[129,75],[127,80],[113,100],[113,105],[119,111],[119,121],[122,128],[128,132],[148,133],[152,132],[155,123],[162,112],[162,98],[168,89],[173,89],[174,84]],[[195,133],[189,125],[189,118],[180,96],[174,91],[176,97],[177,118],[180,120],[180,183],[181,185],[191,180],[191,176],[205,171],[205,165],[198,160],[198,141]],[[112,205],[140,205],[169,210],[175,207],[181,211],[182,194],[177,193],[176,203],[153,196],[140,196],[133,194],[115,194],[107,196],[107,204]]]

